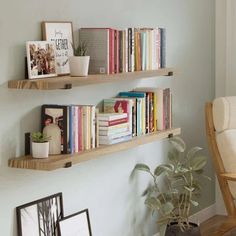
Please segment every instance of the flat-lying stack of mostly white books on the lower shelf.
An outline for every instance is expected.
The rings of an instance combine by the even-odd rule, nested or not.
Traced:
[[[131,139],[127,113],[99,113],[99,143],[110,145]]]

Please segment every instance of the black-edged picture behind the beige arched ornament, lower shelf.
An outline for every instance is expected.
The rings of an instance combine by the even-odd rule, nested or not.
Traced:
[[[56,124],[61,130],[61,153],[67,153],[68,130],[67,130],[67,106],[43,105],[41,113],[42,130],[45,126]]]

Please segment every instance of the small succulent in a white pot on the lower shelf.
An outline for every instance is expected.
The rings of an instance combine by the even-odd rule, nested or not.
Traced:
[[[34,158],[48,158],[50,137],[41,132],[31,134],[32,156]]]

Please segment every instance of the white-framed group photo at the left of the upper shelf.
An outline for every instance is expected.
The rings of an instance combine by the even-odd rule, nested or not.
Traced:
[[[29,79],[56,76],[55,44],[48,41],[26,42]]]

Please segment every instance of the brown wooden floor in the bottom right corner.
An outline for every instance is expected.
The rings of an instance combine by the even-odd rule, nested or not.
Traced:
[[[200,225],[201,228],[201,235],[202,236],[211,236],[225,221],[226,216],[216,215],[212,218],[208,219],[207,221],[203,222]],[[236,229],[232,230],[229,233],[224,234],[224,236],[236,236]]]

